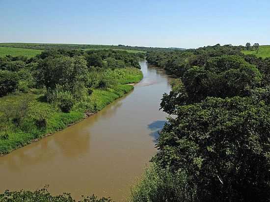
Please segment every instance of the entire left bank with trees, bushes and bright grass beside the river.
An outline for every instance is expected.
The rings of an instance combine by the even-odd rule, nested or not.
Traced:
[[[0,57],[0,155],[105,107],[140,81],[144,53],[48,50]]]

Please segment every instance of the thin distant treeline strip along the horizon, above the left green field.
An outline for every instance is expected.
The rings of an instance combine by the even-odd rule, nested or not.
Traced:
[[[0,43],[0,47],[50,50],[50,49],[119,49],[135,51],[170,51],[178,48],[153,48],[125,45],[90,45],[90,44],[38,44],[38,43]]]

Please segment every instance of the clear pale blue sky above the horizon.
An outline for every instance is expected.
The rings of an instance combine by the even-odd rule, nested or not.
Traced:
[[[270,45],[270,0],[0,0],[0,42]]]

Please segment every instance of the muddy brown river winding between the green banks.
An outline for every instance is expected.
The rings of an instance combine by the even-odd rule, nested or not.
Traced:
[[[144,78],[125,97],[52,136],[0,157],[0,192],[50,185],[53,194],[110,196],[127,201],[166,121],[159,111],[171,78],[140,62]]]

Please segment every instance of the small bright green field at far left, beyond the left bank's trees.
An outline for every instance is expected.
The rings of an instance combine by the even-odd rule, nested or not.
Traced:
[[[37,54],[40,54],[42,51],[40,50],[31,50],[31,49],[18,49],[18,48],[7,48],[7,47],[0,47],[0,56],[5,55],[25,55],[28,58],[34,57]]]

